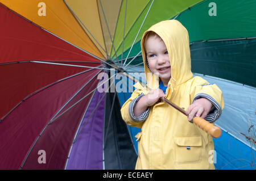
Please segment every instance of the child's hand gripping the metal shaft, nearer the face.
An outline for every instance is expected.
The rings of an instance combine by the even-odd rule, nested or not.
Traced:
[[[150,92],[148,92],[148,94],[146,94],[144,96],[144,100],[145,100],[145,104],[147,106],[152,106],[154,105],[156,102],[160,101],[161,97],[164,97],[165,94],[163,92],[163,90],[161,89],[153,89]]]

